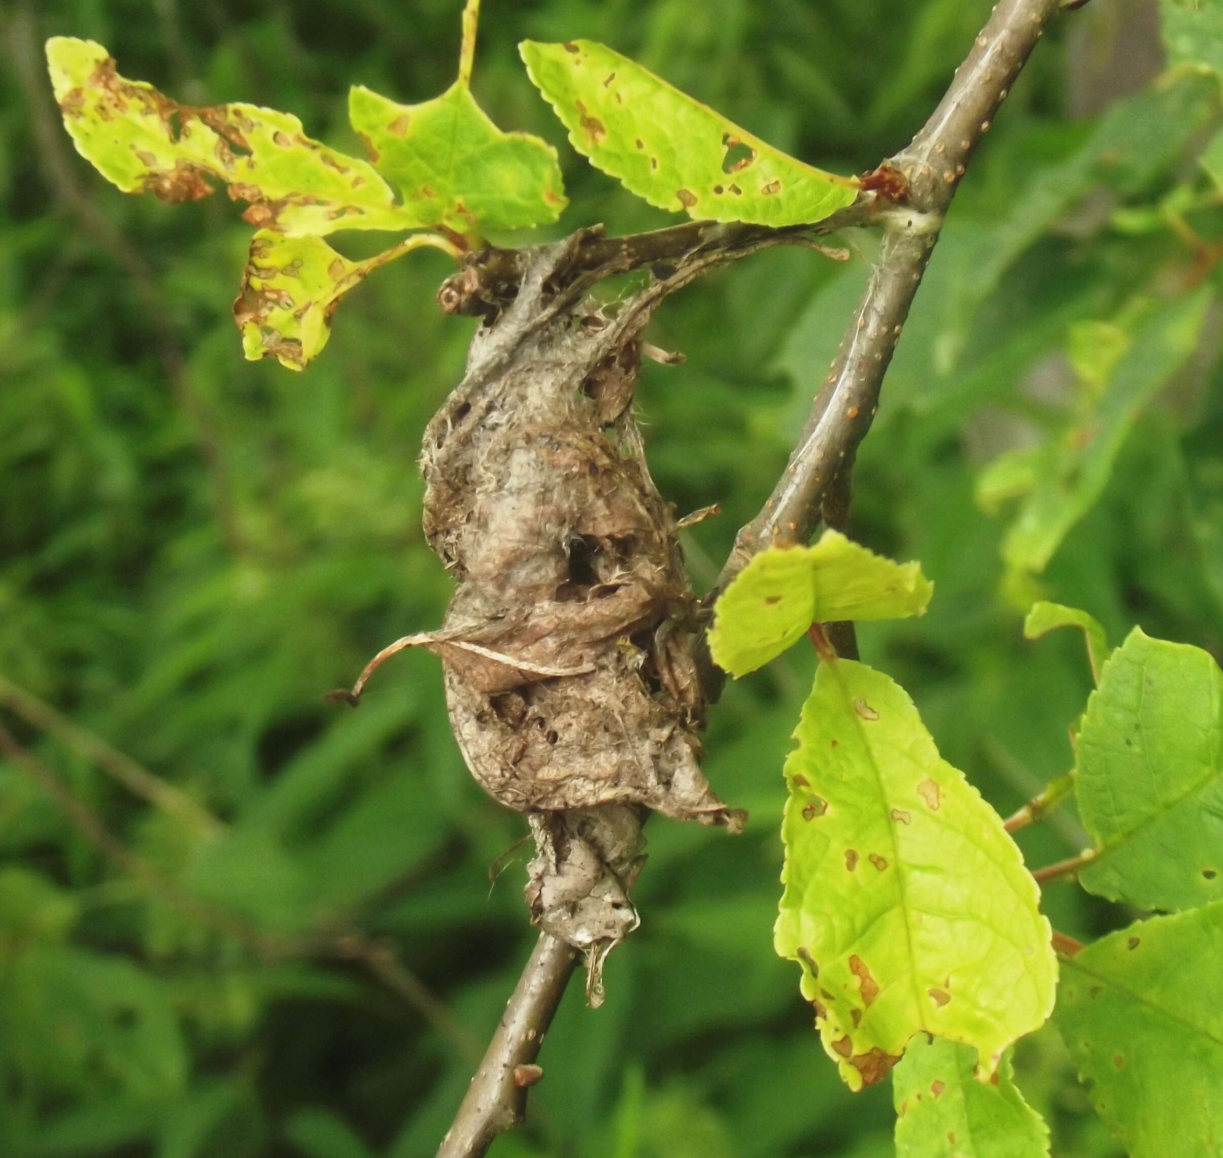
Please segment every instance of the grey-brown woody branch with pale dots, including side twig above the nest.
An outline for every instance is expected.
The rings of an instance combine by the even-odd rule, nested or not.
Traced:
[[[806,541],[834,480],[840,477],[848,486],[854,455],[874,417],[884,375],[959,181],[1046,24],[1070,6],[1077,5],[999,0],[938,108],[909,147],[887,162],[887,168],[903,175],[904,197],[889,201],[867,193],[835,218],[810,228],[691,223],[623,239],[589,231],[575,247],[575,284],[585,288],[643,266],[654,266],[665,279],[671,275],[665,269],[669,261],[686,262],[695,277],[697,267],[703,272],[772,245],[810,241],[848,225],[883,226],[874,272],[832,372],[813,398],[777,487],[759,514],[739,531],[713,595],[763,547]],[[663,263],[662,273],[657,263]],[[521,251],[473,255],[443,285],[439,301],[449,312],[495,311],[512,296],[526,264]],[[829,506],[839,506],[835,495]],[[538,1077],[533,1061],[539,1042],[574,963],[569,946],[541,936],[438,1158],[481,1158],[497,1134],[521,1121],[527,1085]]]

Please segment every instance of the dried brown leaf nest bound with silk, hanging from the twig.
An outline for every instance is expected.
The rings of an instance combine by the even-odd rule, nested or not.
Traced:
[[[700,768],[692,590],[631,413],[638,334],[668,286],[612,316],[566,289],[572,246],[533,251],[426,432],[426,536],[459,588],[440,632],[371,667],[400,646],[442,656],[467,766],[531,814],[532,917],[587,952],[597,1000],[637,923],[643,809],[731,830],[744,815]]]

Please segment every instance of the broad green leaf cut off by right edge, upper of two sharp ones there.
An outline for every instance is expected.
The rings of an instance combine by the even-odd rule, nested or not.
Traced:
[[[1091,892],[1140,908],[1223,898],[1223,672],[1135,628],[1087,700],[1075,794]]]

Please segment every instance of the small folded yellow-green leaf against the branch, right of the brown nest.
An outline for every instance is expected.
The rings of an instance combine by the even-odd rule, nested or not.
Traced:
[[[894,563],[826,530],[812,547],[768,547],[752,558],[714,607],[709,651],[744,676],[812,623],[925,614],[933,591],[920,563]]]

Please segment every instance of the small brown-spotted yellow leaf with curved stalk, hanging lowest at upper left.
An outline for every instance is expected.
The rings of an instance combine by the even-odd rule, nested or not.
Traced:
[[[251,239],[234,319],[248,361],[273,355],[289,370],[305,370],[331,337],[340,299],[379,266],[419,248],[457,250],[437,234],[413,234],[368,261],[352,262],[322,237],[286,237],[260,229]]]

